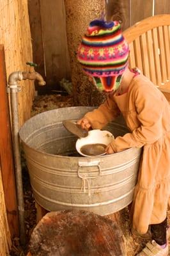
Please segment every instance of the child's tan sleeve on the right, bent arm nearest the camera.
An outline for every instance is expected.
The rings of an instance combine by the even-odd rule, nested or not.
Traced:
[[[114,152],[120,152],[126,148],[143,147],[146,144],[152,144],[162,136],[162,113],[164,109],[164,100],[160,92],[148,86],[142,86],[140,90],[134,93],[132,100],[135,102],[137,119],[140,126],[134,129],[132,133],[124,136],[118,136],[112,141]]]

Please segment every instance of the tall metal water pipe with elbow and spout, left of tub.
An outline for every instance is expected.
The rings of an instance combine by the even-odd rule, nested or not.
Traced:
[[[12,112],[12,138],[13,138],[13,155],[15,161],[15,179],[17,183],[17,204],[19,212],[19,230],[20,243],[26,243],[26,231],[24,223],[24,195],[22,186],[22,167],[20,160],[20,141],[19,141],[19,110],[18,110],[18,95],[20,86],[18,81],[23,79],[38,79],[39,85],[45,85],[43,77],[31,68],[31,72],[13,72],[8,78],[8,92],[10,93],[11,112]]]

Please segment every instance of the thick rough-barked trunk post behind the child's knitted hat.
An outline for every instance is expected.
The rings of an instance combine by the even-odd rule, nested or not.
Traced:
[[[77,61],[77,49],[89,22],[93,19],[100,19],[105,13],[105,0],[65,0],[65,10],[75,105],[98,106],[104,100],[104,96],[88,81],[88,76],[82,71]]]

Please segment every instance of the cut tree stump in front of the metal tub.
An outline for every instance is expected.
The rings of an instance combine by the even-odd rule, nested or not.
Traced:
[[[36,225],[29,256],[125,256],[121,228],[88,211],[49,212]]]

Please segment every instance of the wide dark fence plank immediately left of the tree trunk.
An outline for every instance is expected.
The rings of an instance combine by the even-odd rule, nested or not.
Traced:
[[[56,86],[63,77],[70,77],[64,1],[40,0],[40,11],[46,80]]]

